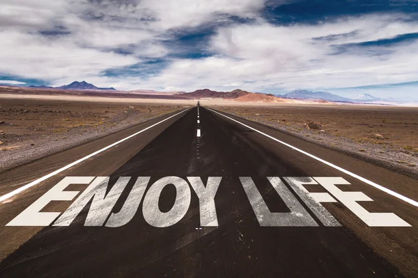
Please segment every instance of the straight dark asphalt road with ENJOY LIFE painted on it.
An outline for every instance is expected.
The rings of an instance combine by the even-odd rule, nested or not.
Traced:
[[[0,174],[0,277],[416,277],[418,181],[185,108]]]

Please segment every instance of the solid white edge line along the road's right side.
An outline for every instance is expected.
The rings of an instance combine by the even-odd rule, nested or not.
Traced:
[[[223,115],[222,113],[219,113],[217,111],[214,111],[214,110],[212,110],[210,108],[208,108],[208,109],[210,111],[214,112],[214,113],[217,113],[219,115],[222,115],[223,117],[228,118],[229,120],[232,120],[233,122],[238,122],[237,120],[234,120],[231,117],[228,117],[226,115]],[[401,199],[401,200],[407,202],[408,204],[412,204],[412,206],[417,206],[418,207],[418,202],[415,201],[415,200],[413,200],[413,199],[410,199],[410,198],[405,197],[405,196],[403,196],[403,195],[401,195],[399,193],[396,193],[393,190],[390,190],[389,188],[385,188],[384,186],[380,186],[380,184],[375,183],[373,181],[369,181],[369,179],[365,179],[364,177],[360,177],[358,174],[354,174],[353,172],[350,172],[350,171],[348,171],[346,169],[343,169],[342,167],[339,167],[339,166],[334,165],[334,164],[332,164],[332,163],[330,163],[328,161],[325,161],[322,158],[319,158],[318,156],[314,156],[313,154],[309,154],[308,152],[305,152],[302,149],[298,149],[297,147],[293,147],[292,145],[290,145],[290,144],[288,144],[286,142],[283,142],[281,140],[278,140],[278,139],[276,139],[276,138],[274,138],[274,137],[272,137],[272,136],[270,136],[270,135],[268,135],[266,133],[263,133],[261,131],[258,131],[257,129],[254,129],[251,126],[247,126],[247,124],[242,124],[242,122],[238,122],[238,124],[241,124],[242,126],[245,126],[245,127],[249,128],[249,129],[251,129],[253,131],[256,131],[256,132],[262,134],[263,136],[266,136],[266,137],[268,137],[268,138],[270,138],[270,139],[272,139],[272,140],[274,140],[276,142],[279,142],[280,144],[285,145],[286,147],[290,147],[291,149],[294,149],[295,151],[300,152],[301,154],[304,154],[304,155],[307,155],[307,156],[309,156],[311,158],[314,158],[316,161],[322,162],[325,165],[328,165],[330,167],[333,167],[334,169],[339,170],[340,172],[343,172],[344,174],[348,174],[349,176],[351,176],[351,177],[353,177],[355,179],[358,179],[359,181],[363,181],[364,183],[369,184],[369,186],[373,186],[374,188],[377,188],[378,190],[382,190],[383,192],[385,192],[385,193],[387,193],[389,195],[392,195],[392,196],[394,196],[394,197],[396,197],[398,199]]]

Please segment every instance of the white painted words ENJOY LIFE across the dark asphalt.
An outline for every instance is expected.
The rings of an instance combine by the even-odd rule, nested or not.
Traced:
[[[209,177],[206,185],[200,177],[163,177],[153,183],[146,191],[150,177],[138,177],[118,212],[112,212],[116,202],[125,190],[131,177],[119,177],[109,189],[109,177],[65,177],[17,215],[6,226],[68,226],[91,203],[84,226],[121,227],[137,213],[142,202],[142,214],[153,227],[170,227],[179,222],[187,213],[192,198],[192,190],[199,197],[200,222],[202,227],[217,227],[218,218],[215,195],[222,177]],[[284,177],[284,181],[302,199],[311,213],[307,211],[284,181],[279,177],[268,177],[268,181],[283,199],[290,212],[271,212],[265,204],[251,177],[240,177],[240,182],[262,227],[318,227],[317,220],[325,227],[339,227],[341,224],[322,205],[325,202],[341,202],[357,217],[371,227],[410,227],[410,224],[394,213],[370,213],[357,202],[373,201],[361,192],[343,191],[336,185],[350,185],[342,177]],[[70,184],[88,184],[67,210],[43,212],[49,202],[72,201],[79,191],[67,191]],[[169,211],[160,211],[159,199],[165,186],[176,187],[176,200]],[[311,193],[305,185],[320,185],[327,193]],[[191,188],[190,188],[191,187]],[[341,186],[340,186],[341,187]],[[108,192],[109,191],[109,192]],[[107,193],[108,192],[108,193]],[[144,194],[146,192],[146,194]],[[107,194],[106,194],[107,193]],[[42,212],[41,212],[42,211]]]

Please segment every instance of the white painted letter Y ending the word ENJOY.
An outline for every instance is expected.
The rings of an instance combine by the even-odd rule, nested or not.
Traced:
[[[199,197],[199,208],[202,227],[217,227],[215,195],[222,177],[209,177],[206,187],[200,177],[187,177],[194,192]]]

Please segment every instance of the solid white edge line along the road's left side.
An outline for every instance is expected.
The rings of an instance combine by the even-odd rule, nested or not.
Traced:
[[[70,167],[72,167],[74,165],[77,165],[77,164],[85,161],[86,159],[91,158],[92,156],[95,156],[96,154],[100,154],[101,152],[104,152],[105,150],[110,149],[111,147],[114,147],[114,146],[120,144],[121,142],[123,142],[125,140],[128,140],[128,139],[130,139],[130,138],[132,138],[134,136],[137,136],[139,133],[142,133],[142,132],[144,132],[144,131],[146,131],[148,129],[151,129],[154,126],[156,126],[158,124],[161,124],[162,122],[165,122],[165,121],[171,119],[172,117],[176,117],[176,115],[179,115],[179,114],[181,114],[181,113],[183,113],[183,112],[185,112],[185,111],[187,111],[189,109],[190,108],[187,108],[187,109],[185,109],[185,110],[183,110],[183,111],[181,111],[181,112],[179,112],[179,113],[177,113],[175,115],[172,115],[170,117],[167,117],[166,119],[164,119],[164,120],[162,120],[160,122],[157,122],[156,124],[153,124],[151,126],[148,126],[146,129],[142,129],[141,131],[138,131],[137,133],[134,133],[134,134],[132,134],[130,136],[127,136],[126,138],[123,138],[122,140],[119,140],[118,142],[114,142],[113,144],[111,144],[111,145],[109,145],[107,147],[104,147],[103,149],[99,149],[97,152],[93,152],[93,154],[89,154],[88,156],[84,156],[83,158],[80,158],[78,161],[74,161],[73,163],[70,163],[70,164],[62,167],[59,170],[55,170],[54,172],[49,173],[46,176],[41,177],[40,179],[36,179],[35,181],[32,181],[31,183],[26,184],[26,186],[22,186],[21,188],[17,188],[16,190],[13,190],[12,192],[7,193],[6,195],[1,196],[0,197],[0,202],[3,202],[4,200],[9,199],[10,197],[13,197],[13,196],[17,195],[17,194],[21,193],[22,191],[24,191],[24,190],[26,190],[28,188],[31,188],[32,186],[36,186],[38,183],[40,183],[42,181],[45,181],[46,179],[49,179],[50,177],[54,177],[56,174],[59,174],[59,173],[65,171],[65,170],[69,169]]]

